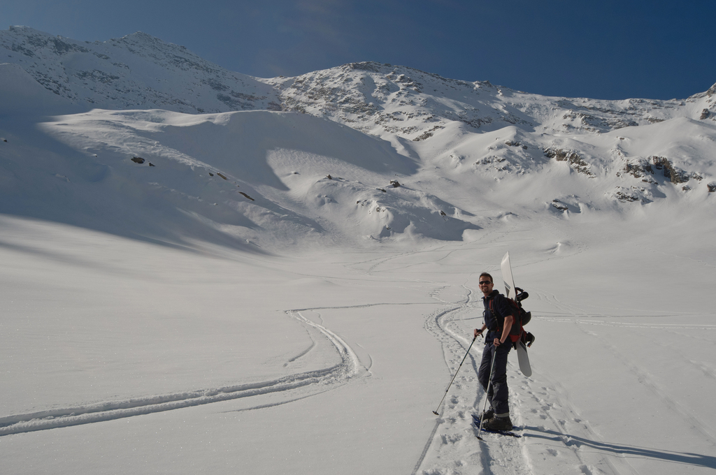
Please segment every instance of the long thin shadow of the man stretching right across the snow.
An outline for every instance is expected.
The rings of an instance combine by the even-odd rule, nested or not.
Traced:
[[[582,437],[571,436],[569,434],[561,434],[557,431],[546,430],[536,426],[524,426],[524,430],[532,430],[523,434],[523,437],[532,439],[546,439],[556,441],[566,446],[588,446],[600,451],[613,452],[619,456],[640,456],[649,459],[660,459],[664,461],[674,462],[676,464],[687,464],[695,466],[704,466],[710,469],[716,469],[716,456],[691,454],[688,452],[673,452],[658,449],[649,449],[647,447],[627,446],[619,444],[606,444],[604,442],[590,441]]]

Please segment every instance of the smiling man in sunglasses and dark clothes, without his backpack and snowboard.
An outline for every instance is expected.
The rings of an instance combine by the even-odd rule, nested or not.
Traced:
[[[483,293],[485,320],[480,330],[475,328],[475,337],[481,336],[485,330],[488,330],[483,359],[480,361],[478,370],[478,380],[483,385],[483,389],[487,391],[488,401],[490,401],[490,408],[483,414],[483,427],[491,431],[511,431],[512,421],[510,420],[507,389],[507,356],[512,348],[512,344],[508,340],[515,316],[512,315],[512,310],[505,301],[506,297],[497,290],[493,290],[492,275],[486,272],[480,274],[479,285],[480,291]],[[493,358],[494,366],[491,368],[492,378],[490,379],[490,365],[493,364]]]

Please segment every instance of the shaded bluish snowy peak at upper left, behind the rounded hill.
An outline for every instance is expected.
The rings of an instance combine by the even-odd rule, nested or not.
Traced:
[[[0,62],[19,64],[84,107],[191,114],[279,107],[266,84],[142,32],[89,43],[11,26],[0,31]]]

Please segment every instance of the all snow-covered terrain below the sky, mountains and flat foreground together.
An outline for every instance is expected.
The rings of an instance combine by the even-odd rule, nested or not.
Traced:
[[[716,469],[713,88],[0,47],[2,473]],[[522,438],[480,441],[480,342],[432,410],[507,250],[533,375],[511,356]]]

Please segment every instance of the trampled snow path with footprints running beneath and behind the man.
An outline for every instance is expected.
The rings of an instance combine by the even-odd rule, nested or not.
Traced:
[[[442,344],[451,378],[471,343],[458,321],[482,314],[479,293],[465,285],[463,288],[467,295],[464,303],[446,303],[450,306],[429,315],[425,323],[426,330]],[[440,290],[435,289],[432,297],[438,298]],[[586,316],[584,310],[559,302],[555,295],[542,294],[541,298],[569,315]],[[558,473],[584,475],[636,473],[624,459],[613,461],[599,451],[583,451],[583,447],[608,444],[599,440],[558,383],[538,371],[525,378],[513,363],[514,357],[508,363],[511,416],[522,438],[483,433],[483,441],[477,439],[478,429],[472,423],[472,415],[483,410],[485,396],[477,380],[482,351],[479,343],[473,344],[445,393],[445,401],[437,409],[441,415],[415,464],[414,475],[542,474],[553,472],[556,467]]]

